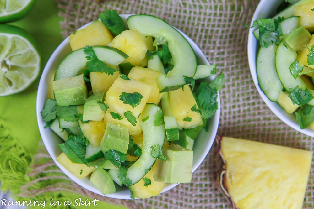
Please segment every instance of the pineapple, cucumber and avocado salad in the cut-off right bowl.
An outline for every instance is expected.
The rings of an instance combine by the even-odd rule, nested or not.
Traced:
[[[260,46],[258,85],[270,101],[295,114],[301,129],[314,128],[314,1],[283,5],[276,16],[252,26]]]

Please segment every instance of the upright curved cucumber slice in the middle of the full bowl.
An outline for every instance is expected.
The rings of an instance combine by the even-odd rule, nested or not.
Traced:
[[[145,118],[144,122],[142,121],[143,118]],[[132,182],[130,185],[141,180],[154,165],[156,158],[151,156],[152,146],[159,145],[162,148],[165,143],[165,124],[156,126],[156,120],[164,120],[162,110],[156,104],[146,104],[140,120],[140,126],[143,130],[142,155],[127,171],[126,177]]]

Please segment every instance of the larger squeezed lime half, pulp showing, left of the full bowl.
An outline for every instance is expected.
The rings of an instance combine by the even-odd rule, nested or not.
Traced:
[[[17,93],[35,81],[40,71],[35,39],[23,29],[0,24],[0,96]]]

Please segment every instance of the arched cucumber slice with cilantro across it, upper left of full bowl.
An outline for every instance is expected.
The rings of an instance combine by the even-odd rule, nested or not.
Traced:
[[[106,65],[117,66],[128,57],[124,52],[110,46],[93,46],[92,48],[97,58]],[[84,48],[71,52],[58,66],[54,80],[77,76],[86,66],[88,61],[86,56]]]

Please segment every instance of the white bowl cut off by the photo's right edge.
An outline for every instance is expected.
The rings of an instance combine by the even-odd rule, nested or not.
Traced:
[[[272,18],[276,15],[276,8],[283,0],[261,0],[260,3],[257,5],[257,8],[253,14],[251,25],[253,25],[254,20],[259,18]],[[277,102],[270,101],[266,95],[261,90],[260,86],[258,85],[257,81],[257,74],[256,74],[256,59],[257,59],[257,50],[258,50],[258,43],[257,39],[253,35],[253,31],[255,28],[250,28],[249,36],[247,41],[247,55],[249,61],[249,67],[251,71],[251,75],[254,81],[254,84],[257,88],[258,93],[269,107],[269,109],[284,123],[286,123],[291,128],[304,133],[308,136],[314,137],[314,131],[311,128],[301,129],[299,123],[295,118],[295,114],[289,114],[284,109],[282,109]]]

